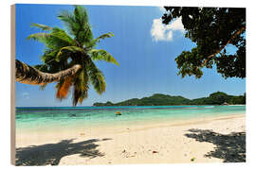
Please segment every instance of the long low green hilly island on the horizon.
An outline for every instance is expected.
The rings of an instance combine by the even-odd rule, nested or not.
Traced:
[[[149,97],[132,98],[119,103],[94,103],[93,106],[172,106],[172,105],[245,105],[244,95],[229,95],[223,92],[210,93],[208,97],[188,99],[180,95],[155,93]]]

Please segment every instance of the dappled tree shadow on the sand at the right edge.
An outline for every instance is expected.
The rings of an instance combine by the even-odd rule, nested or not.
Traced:
[[[222,159],[224,162],[246,161],[246,133],[232,132],[230,134],[220,134],[212,130],[189,129],[185,134],[188,138],[193,138],[199,142],[215,144],[215,150],[210,151],[205,157]]]

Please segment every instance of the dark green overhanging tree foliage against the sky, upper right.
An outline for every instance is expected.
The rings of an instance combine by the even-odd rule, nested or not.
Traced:
[[[181,17],[185,37],[196,43],[191,51],[183,51],[176,59],[178,74],[203,75],[202,68],[212,68],[225,78],[246,77],[246,8],[181,8],[165,7],[163,23],[168,25]],[[236,48],[235,54],[227,46]]]

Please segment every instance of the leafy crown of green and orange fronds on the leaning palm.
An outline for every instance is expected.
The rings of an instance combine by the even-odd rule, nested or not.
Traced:
[[[64,23],[67,32],[60,27],[33,24],[32,26],[42,29],[43,32],[31,34],[27,39],[46,44],[42,56],[43,64],[35,66],[39,71],[54,74],[79,65],[76,72],[69,70],[73,73],[70,76],[59,74],[55,79],[57,80],[56,97],[62,100],[72,87],[73,106],[76,106],[78,102],[82,104],[82,100],[87,97],[90,84],[97,93],[105,92],[104,76],[94,61],[105,60],[117,65],[119,63],[105,50],[96,49],[96,46],[102,39],[114,35],[106,33],[94,39],[87,11],[82,6],[75,6],[73,13],[64,10],[58,18]],[[47,81],[42,82],[42,87],[45,87],[47,83]]]

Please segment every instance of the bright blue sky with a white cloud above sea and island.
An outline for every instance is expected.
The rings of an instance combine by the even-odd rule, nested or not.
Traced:
[[[204,76],[181,78],[177,76],[175,57],[194,45],[184,38],[179,20],[163,26],[158,7],[85,6],[89,13],[94,37],[113,32],[114,37],[101,41],[98,46],[111,53],[119,66],[97,61],[106,80],[106,92],[99,95],[91,87],[82,106],[95,102],[119,102],[129,98],[141,98],[153,93],[182,95],[187,98],[207,96],[216,91],[229,94],[246,92],[246,79],[225,79],[214,69],[204,69]],[[34,65],[41,63],[45,45],[27,41],[26,38],[40,30],[32,23],[64,27],[57,19],[63,9],[72,6],[16,5],[16,59]],[[229,48],[232,51],[232,48]],[[44,91],[38,86],[16,82],[16,106],[71,106],[71,95],[62,102],[55,98],[55,83]],[[78,105],[80,106],[80,105]]]

